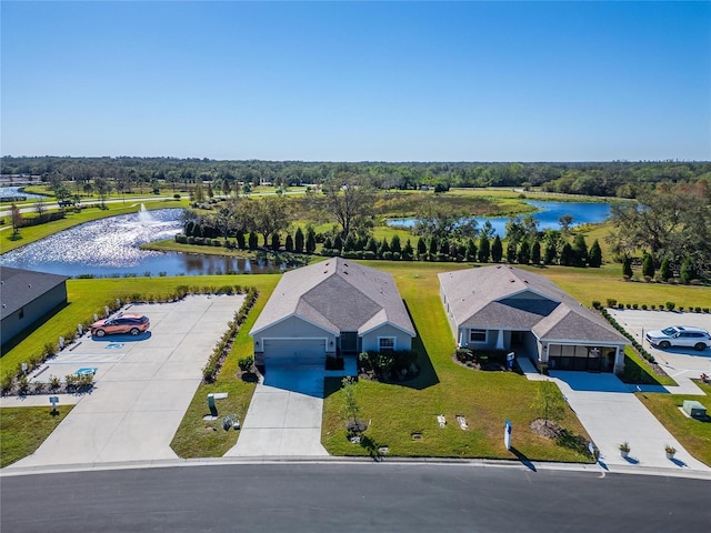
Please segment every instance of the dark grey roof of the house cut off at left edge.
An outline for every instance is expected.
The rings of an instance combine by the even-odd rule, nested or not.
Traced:
[[[0,319],[9,316],[68,279],[67,275],[0,266]]]

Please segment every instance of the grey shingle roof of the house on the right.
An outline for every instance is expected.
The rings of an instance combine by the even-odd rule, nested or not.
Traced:
[[[548,278],[509,265],[439,274],[458,326],[531,330],[547,341],[629,344]]]

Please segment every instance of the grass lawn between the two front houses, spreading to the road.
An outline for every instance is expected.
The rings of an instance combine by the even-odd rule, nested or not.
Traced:
[[[387,445],[400,456],[451,456],[515,459],[503,445],[505,420],[513,425],[512,444],[531,460],[590,461],[589,454],[557,445],[538,436],[529,424],[538,414],[531,409],[538,384],[515,373],[477,372],[451,359],[454,339],[439,300],[437,273],[464,265],[389,263],[374,265],[391,272],[410,310],[419,340],[421,374],[405,385],[360,381],[356,395],[360,419],[370,421],[367,445],[351,444],[343,428],[342,395],[331,383],[324,401],[323,444],[337,455],[368,455],[369,445]],[[440,429],[438,414],[448,420]],[[463,414],[468,431],[459,429]],[[570,432],[588,439],[575,415],[567,409],[562,421]],[[421,433],[413,440],[412,433]]]

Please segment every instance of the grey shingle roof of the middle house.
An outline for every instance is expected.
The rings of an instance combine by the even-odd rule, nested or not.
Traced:
[[[289,316],[337,335],[363,334],[383,324],[415,335],[392,275],[342,258],[286,272],[250,334]]]

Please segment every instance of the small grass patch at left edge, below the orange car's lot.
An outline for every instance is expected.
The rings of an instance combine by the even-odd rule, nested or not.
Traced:
[[[50,406],[0,409],[0,469],[34,453],[72,409],[60,405],[57,415]]]

